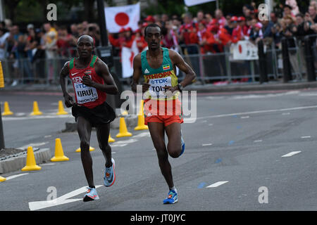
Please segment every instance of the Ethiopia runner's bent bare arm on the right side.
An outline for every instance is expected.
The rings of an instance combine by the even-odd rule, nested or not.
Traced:
[[[173,65],[176,65],[182,72],[185,73],[185,78],[180,82],[180,84],[185,87],[192,84],[193,79],[196,78],[194,70],[185,62],[185,60],[180,56],[180,54],[173,50],[168,50],[170,54],[170,59]]]

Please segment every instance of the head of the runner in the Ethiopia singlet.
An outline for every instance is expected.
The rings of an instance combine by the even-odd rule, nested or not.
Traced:
[[[156,50],[161,48],[161,41],[163,39],[162,29],[159,25],[151,23],[144,29],[144,39],[147,41],[149,50]]]

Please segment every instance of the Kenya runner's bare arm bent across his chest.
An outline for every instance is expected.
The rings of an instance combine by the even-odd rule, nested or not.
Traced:
[[[104,84],[94,82],[87,75],[82,77],[82,84],[85,84],[87,86],[93,86],[94,88],[99,89],[100,91],[104,91],[107,94],[118,94],[119,91],[116,82],[114,81],[111,73],[109,72],[108,66],[100,58],[98,58],[98,60],[95,63],[95,70],[97,75],[104,79]]]

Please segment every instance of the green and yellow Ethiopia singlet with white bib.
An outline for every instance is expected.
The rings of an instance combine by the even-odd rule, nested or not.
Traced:
[[[151,68],[147,62],[147,50],[141,53],[141,65],[142,65],[142,75],[144,76],[144,81],[151,85],[149,91],[145,94],[147,98],[157,99],[157,100],[170,100],[178,98],[178,94],[167,97],[165,94],[165,89],[163,86],[177,86],[178,77],[176,77],[173,70],[173,63],[170,60],[170,55],[168,49],[163,49],[163,63],[157,68]],[[178,92],[179,93],[179,92]]]

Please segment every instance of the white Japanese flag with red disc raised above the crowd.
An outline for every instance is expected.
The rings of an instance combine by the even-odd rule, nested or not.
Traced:
[[[121,28],[126,27],[137,30],[137,22],[139,22],[140,14],[139,8],[139,3],[128,6],[104,8],[108,32],[118,33]]]

